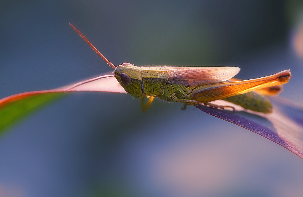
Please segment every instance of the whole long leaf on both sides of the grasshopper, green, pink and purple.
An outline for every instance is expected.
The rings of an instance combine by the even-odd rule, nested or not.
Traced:
[[[64,96],[68,92],[99,91],[126,93],[115,77],[102,78],[66,90],[68,87],[71,87],[71,85],[53,90],[20,93],[1,99],[0,134],[3,133],[7,127],[11,126],[22,117],[25,117],[27,114],[37,110],[39,107]],[[303,108],[301,105],[295,106],[289,100],[275,99],[273,112],[270,114],[264,114],[252,110],[246,110],[224,100],[217,100],[213,103],[235,107],[237,112],[233,113],[229,110],[219,110],[203,105],[197,107],[208,114],[237,124],[268,138],[303,158]]]

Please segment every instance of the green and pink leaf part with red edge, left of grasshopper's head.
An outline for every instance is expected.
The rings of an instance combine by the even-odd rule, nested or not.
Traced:
[[[74,83],[73,83],[74,84]],[[115,77],[102,78],[96,81],[82,84],[70,90],[71,85],[54,90],[42,90],[15,94],[0,100],[0,134],[6,128],[16,123],[26,115],[42,106],[63,97],[68,92],[75,91],[99,91],[126,93]]]

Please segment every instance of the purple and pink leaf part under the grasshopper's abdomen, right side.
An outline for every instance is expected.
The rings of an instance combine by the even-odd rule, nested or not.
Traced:
[[[281,99],[275,99],[273,112],[264,114],[246,110],[241,106],[224,100],[216,100],[212,103],[235,107],[236,113],[203,105],[197,107],[212,116],[237,124],[270,139],[303,159],[303,108],[301,106],[291,104],[289,100],[281,101]],[[285,109],[287,113],[285,113]]]

